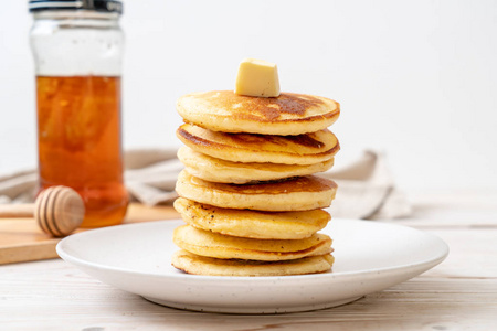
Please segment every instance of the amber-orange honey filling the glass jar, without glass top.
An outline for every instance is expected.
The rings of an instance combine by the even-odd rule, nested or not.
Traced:
[[[41,189],[66,185],[85,202],[82,226],[119,224],[123,184],[120,78],[36,77]]]

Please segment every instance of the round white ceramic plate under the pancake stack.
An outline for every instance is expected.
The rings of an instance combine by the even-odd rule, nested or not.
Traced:
[[[410,227],[336,220],[332,273],[286,277],[215,277],[171,267],[172,231],[182,221],[119,225],[75,234],[59,255],[88,275],[169,307],[229,313],[275,313],[329,308],[408,280],[448,253],[440,238]]]

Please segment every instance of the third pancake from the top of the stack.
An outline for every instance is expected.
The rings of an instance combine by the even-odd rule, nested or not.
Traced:
[[[233,184],[255,183],[258,181],[273,181],[296,175],[307,175],[327,171],[334,166],[334,158],[308,166],[232,162],[195,152],[186,146],[178,150],[178,158],[186,166],[188,172],[194,177],[211,182]]]

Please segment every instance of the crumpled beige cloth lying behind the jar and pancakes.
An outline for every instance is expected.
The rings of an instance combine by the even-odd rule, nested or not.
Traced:
[[[148,205],[171,203],[175,184],[183,164],[176,149],[139,149],[125,153],[126,186],[133,199]],[[411,207],[395,188],[385,156],[366,151],[353,164],[320,173],[338,183],[329,212],[334,217],[387,220],[408,216]],[[0,175],[0,203],[33,201],[36,171]]]

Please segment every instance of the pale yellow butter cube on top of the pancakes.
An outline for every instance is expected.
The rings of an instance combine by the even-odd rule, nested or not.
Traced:
[[[279,96],[276,64],[263,60],[245,58],[239,66],[235,94],[256,97]]]

